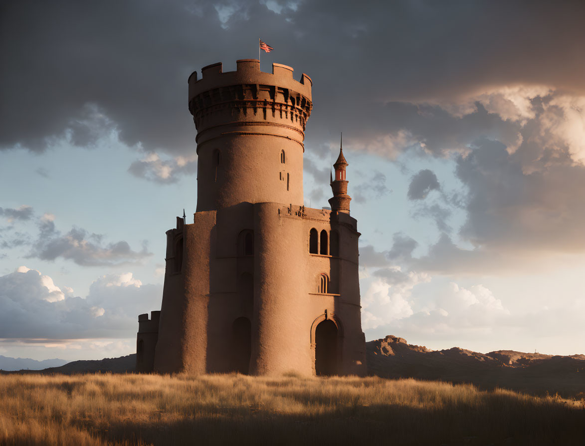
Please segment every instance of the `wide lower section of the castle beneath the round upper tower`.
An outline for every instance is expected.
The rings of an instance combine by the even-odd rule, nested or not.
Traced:
[[[318,253],[310,248],[314,230]],[[247,235],[253,245],[246,245]],[[197,212],[194,224],[178,223],[167,237],[154,370],[366,374],[355,219],[298,205],[240,203]],[[335,323],[335,339],[319,344],[318,327],[327,321]],[[336,355],[325,372],[317,358],[324,345]]]

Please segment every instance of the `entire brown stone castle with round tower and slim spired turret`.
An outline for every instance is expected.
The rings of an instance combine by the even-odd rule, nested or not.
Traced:
[[[312,81],[256,59],[189,77],[197,212],[167,231],[160,311],[139,316],[136,369],[364,375],[357,222],[340,150],[331,210],[303,205]]]

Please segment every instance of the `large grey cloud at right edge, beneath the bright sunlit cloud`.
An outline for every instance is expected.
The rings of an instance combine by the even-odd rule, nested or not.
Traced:
[[[585,249],[585,166],[573,163],[567,150],[548,153],[544,147],[530,164],[523,162],[535,155],[530,142],[510,154],[501,143],[484,139],[459,157],[457,176],[469,190],[460,235],[499,249]]]

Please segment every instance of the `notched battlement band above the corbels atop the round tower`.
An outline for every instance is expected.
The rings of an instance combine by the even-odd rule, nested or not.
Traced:
[[[201,68],[201,79],[197,78],[197,71],[193,71],[188,78],[189,102],[202,92],[219,87],[229,87],[239,84],[272,85],[297,92],[311,101],[311,88],[313,81],[303,73],[301,81],[292,77],[294,71],[286,65],[273,63],[272,73],[260,71],[258,59],[240,59],[236,61],[236,71],[222,71],[222,63],[208,65]]]

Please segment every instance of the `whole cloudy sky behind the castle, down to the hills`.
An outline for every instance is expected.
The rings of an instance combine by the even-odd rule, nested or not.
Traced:
[[[5,1],[0,355],[101,359],[195,211],[194,70],[307,73],[305,205],[344,133],[366,339],[585,352],[585,5]]]

